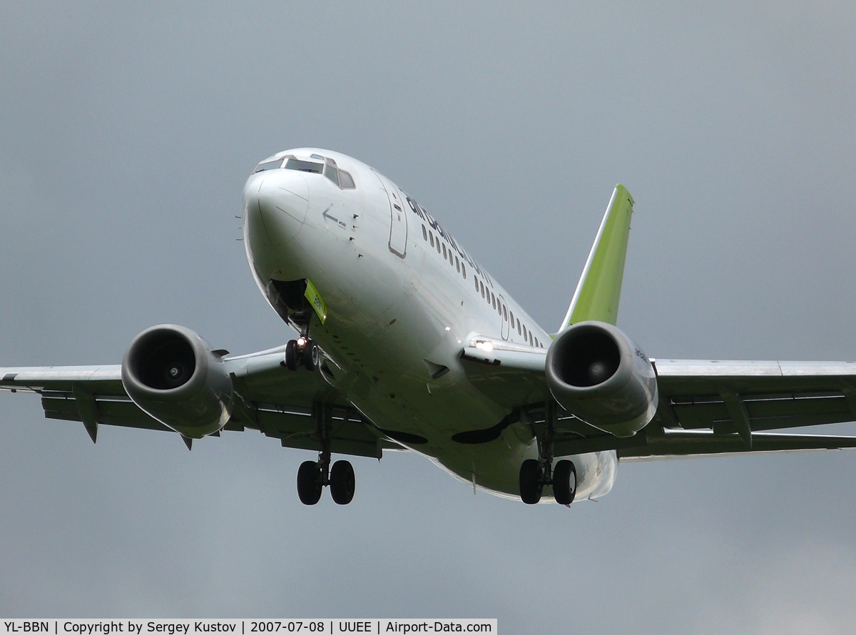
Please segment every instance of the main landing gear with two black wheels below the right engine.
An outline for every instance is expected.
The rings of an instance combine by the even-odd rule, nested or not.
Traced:
[[[520,466],[520,500],[534,505],[541,500],[544,485],[553,486],[553,497],[560,505],[570,505],[577,493],[577,469],[574,462],[560,460],[553,466],[553,422],[556,404],[547,403],[544,412],[545,430],[538,434],[538,459],[526,459]]]

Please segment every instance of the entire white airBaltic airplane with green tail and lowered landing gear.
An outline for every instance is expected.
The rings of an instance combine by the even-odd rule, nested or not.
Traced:
[[[473,489],[526,503],[603,496],[619,461],[853,448],[770,432],[856,419],[853,362],[649,359],[615,328],[633,199],[618,185],[568,312],[549,334],[377,170],[298,148],[256,167],[243,234],[270,306],[300,334],[229,357],[174,324],[122,365],[0,368],[45,417],[178,432],[260,430],[318,452],[307,505],[354,496],[331,454],[423,454]]]

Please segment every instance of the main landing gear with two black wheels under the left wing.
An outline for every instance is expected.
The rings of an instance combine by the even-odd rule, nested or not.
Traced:
[[[287,349],[288,350],[288,349]],[[304,505],[314,505],[321,499],[324,485],[330,485],[330,496],[336,505],[347,505],[354,499],[354,466],[350,461],[337,460],[330,467],[330,436],[332,436],[332,407],[316,403],[315,418],[318,421],[318,436],[321,451],[318,460],[307,460],[297,471],[297,496]]]

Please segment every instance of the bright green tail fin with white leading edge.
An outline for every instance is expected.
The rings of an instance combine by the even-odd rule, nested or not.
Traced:
[[[586,320],[615,324],[632,216],[633,197],[616,185],[560,331]]]

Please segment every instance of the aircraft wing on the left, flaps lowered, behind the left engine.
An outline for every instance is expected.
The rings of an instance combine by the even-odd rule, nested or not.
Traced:
[[[224,360],[235,407],[223,430],[259,430],[283,447],[318,450],[315,404],[323,403],[332,411],[333,452],[379,458],[383,448],[399,448],[374,432],[321,371],[288,371],[281,360],[282,347]],[[0,390],[38,393],[46,418],[81,421],[92,441],[98,424],[173,431],[131,401],[120,365],[0,368]]]

